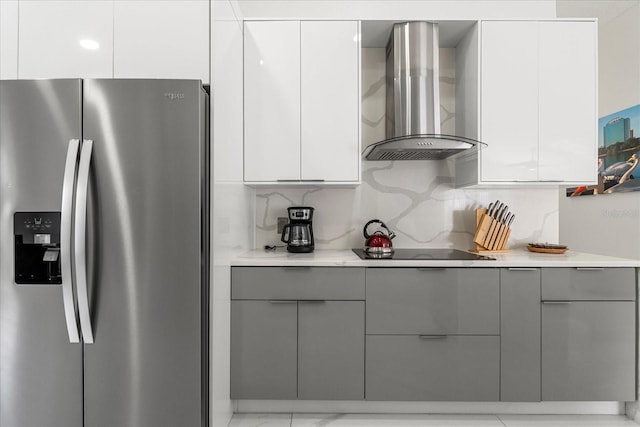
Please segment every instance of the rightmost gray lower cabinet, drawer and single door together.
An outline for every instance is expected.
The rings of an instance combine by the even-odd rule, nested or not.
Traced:
[[[543,268],[541,290],[542,400],[635,400],[635,269]]]

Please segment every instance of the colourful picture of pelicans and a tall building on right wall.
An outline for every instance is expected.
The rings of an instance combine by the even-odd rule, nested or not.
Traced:
[[[567,197],[640,191],[640,104],[598,120],[598,184]]]

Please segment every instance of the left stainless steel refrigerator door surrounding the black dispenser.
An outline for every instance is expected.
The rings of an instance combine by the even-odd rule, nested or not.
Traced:
[[[14,282],[14,213],[60,212],[79,80],[0,81],[0,426],[82,427],[82,346],[58,284]],[[68,278],[63,277],[63,280]]]

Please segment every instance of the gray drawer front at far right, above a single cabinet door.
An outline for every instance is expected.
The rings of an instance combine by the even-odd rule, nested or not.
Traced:
[[[543,268],[543,300],[636,299],[633,268]]]

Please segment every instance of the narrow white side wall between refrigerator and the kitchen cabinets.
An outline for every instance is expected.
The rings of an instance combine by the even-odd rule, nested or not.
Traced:
[[[242,16],[235,1],[211,2],[212,426],[226,426],[229,399],[230,260],[253,246],[253,190],[242,182]]]

